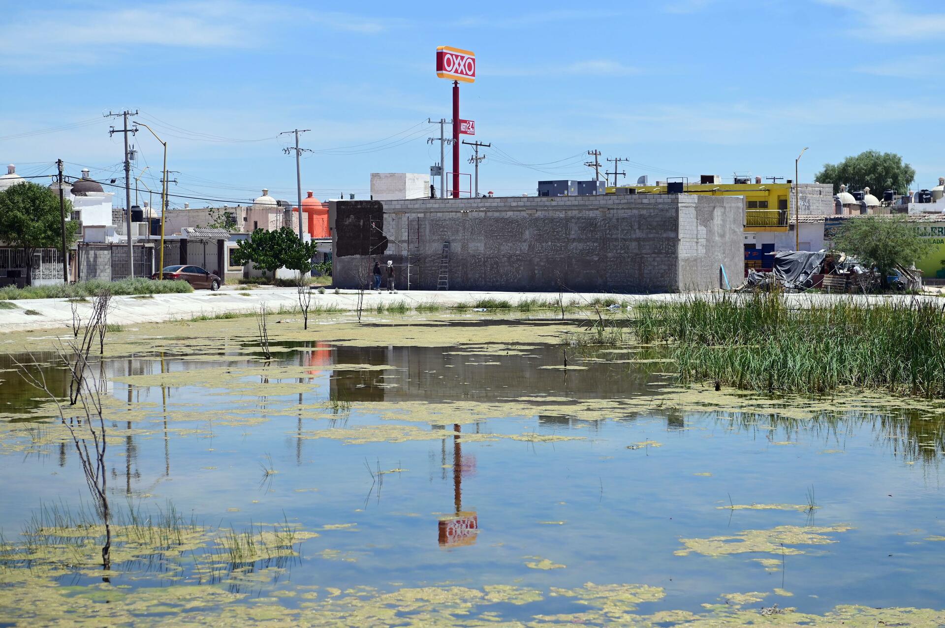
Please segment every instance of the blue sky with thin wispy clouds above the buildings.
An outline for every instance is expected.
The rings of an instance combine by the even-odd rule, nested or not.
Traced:
[[[581,165],[592,148],[632,161],[622,181],[793,178],[804,146],[801,181],[870,148],[901,154],[918,171],[915,188],[945,176],[940,0],[54,0],[0,10],[0,161],[25,175],[52,173],[61,158],[67,174],[85,164],[120,182],[121,138],[101,116],[128,108],[168,142],[168,167],[180,171],[172,194],[247,200],[267,187],[294,199],[278,133],[301,127],[312,129],[302,145],[322,151],[302,161],[303,193],[365,198],[369,173],[424,173],[438,161],[426,143],[438,127],[425,121],[451,116],[450,83],[435,74],[445,44],[476,53],[461,117],[494,146],[483,192],[534,195],[539,179],[593,178]],[[135,144],[157,189],[160,144],[146,132]]]

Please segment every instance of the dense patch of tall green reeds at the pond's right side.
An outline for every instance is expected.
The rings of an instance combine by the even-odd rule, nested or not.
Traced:
[[[684,382],[945,397],[945,311],[924,301],[793,309],[778,295],[693,297],[640,304],[629,322],[642,342],[670,343]]]

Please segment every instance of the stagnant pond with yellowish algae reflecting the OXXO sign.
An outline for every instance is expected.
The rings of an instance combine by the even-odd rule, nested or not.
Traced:
[[[945,405],[683,388],[658,348],[564,347],[560,321],[289,325],[269,360],[252,321],[94,356],[107,571],[75,443],[18,373],[68,403],[68,371],[9,343],[0,626],[945,622]]]

